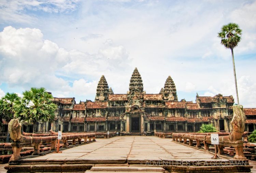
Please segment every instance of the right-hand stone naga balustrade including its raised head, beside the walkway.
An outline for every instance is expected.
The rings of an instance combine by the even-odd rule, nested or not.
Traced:
[[[246,159],[243,154],[243,141],[242,136],[245,134],[245,115],[243,112],[242,105],[234,105],[233,106],[233,118],[231,121],[232,124],[232,133],[219,133],[219,145],[218,154],[224,154],[225,146],[233,146],[236,155],[235,159]],[[204,150],[209,150],[209,144],[211,144],[211,133],[173,133],[172,138],[174,141],[179,141],[184,144],[187,144],[187,140],[189,141],[189,145],[193,146],[193,141],[196,141],[196,147],[201,147],[201,142],[204,144]]]

